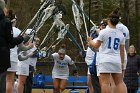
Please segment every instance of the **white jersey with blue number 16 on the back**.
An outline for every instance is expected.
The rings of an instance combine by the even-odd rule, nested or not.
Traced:
[[[115,62],[121,64],[120,45],[125,45],[122,32],[118,29],[107,27],[100,31],[98,40],[102,41],[99,47],[100,63]]]

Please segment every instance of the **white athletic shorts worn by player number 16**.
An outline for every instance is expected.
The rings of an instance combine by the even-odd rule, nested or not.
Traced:
[[[100,73],[122,73],[122,67],[120,63],[113,62],[99,63],[97,68],[98,75]]]

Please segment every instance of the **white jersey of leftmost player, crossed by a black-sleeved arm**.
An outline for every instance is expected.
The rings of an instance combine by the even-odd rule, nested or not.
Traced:
[[[12,27],[12,28],[13,28],[13,37],[17,37],[21,33],[21,30],[19,30],[16,27]],[[17,49],[18,49],[17,46],[15,46],[14,48],[10,49],[10,61],[18,62]]]

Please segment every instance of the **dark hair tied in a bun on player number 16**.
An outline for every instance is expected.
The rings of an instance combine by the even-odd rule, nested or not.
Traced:
[[[109,14],[108,19],[110,20],[111,24],[115,26],[119,22],[119,17],[120,17],[119,8],[116,8]]]

